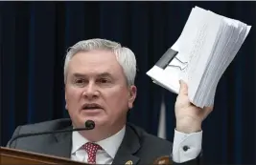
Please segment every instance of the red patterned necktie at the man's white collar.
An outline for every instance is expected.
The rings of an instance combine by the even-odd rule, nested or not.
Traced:
[[[83,149],[88,154],[87,162],[91,164],[96,164],[96,153],[98,150],[103,150],[101,146],[95,143],[87,142],[83,145]]]

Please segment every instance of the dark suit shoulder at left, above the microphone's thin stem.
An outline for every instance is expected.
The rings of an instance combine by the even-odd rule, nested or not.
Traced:
[[[71,120],[68,118],[55,119],[42,121],[34,124],[26,124],[19,126],[20,133],[34,133],[34,132],[45,132],[45,131],[54,131],[61,130],[71,126]]]

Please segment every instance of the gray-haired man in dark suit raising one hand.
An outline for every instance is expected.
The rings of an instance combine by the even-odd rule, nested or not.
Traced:
[[[136,59],[128,48],[104,39],[81,41],[67,52],[64,64],[66,109],[70,119],[18,127],[14,135],[80,128],[95,122],[91,131],[19,138],[12,148],[69,157],[97,164],[152,164],[163,155],[174,163],[198,164],[201,123],[212,111],[193,106],[180,82],[175,102],[174,144],[127,123],[137,89]]]

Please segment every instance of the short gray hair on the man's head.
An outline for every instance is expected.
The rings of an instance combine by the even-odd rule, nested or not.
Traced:
[[[80,41],[73,47],[70,47],[64,63],[64,82],[67,80],[67,68],[71,58],[78,52],[89,52],[93,50],[106,50],[116,55],[118,63],[123,68],[123,72],[127,77],[128,86],[134,85],[136,76],[136,58],[134,53],[121,44],[106,39],[89,39]]]

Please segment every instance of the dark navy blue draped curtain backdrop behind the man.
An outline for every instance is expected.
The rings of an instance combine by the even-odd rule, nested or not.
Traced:
[[[18,125],[68,117],[64,56],[70,46],[89,38],[114,40],[135,53],[138,96],[128,120],[173,141],[176,94],[153,84],[146,72],[175,43],[195,6],[252,26],[221,77],[214,112],[203,123],[202,147],[204,159],[215,164],[255,164],[252,1],[0,2],[1,146]]]

